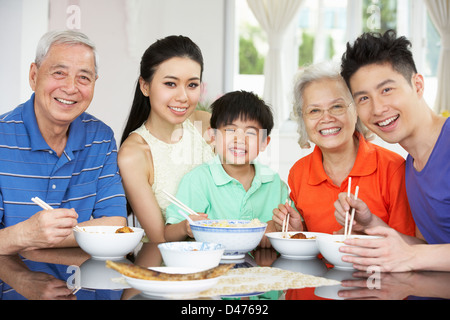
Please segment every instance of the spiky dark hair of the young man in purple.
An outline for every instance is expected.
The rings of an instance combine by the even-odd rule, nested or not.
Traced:
[[[353,45],[347,43],[347,50],[342,56],[341,75],[350,87],[350,78],[359,68],[369,64],[391,64],[392,68],[403,75],[410,83],[417,73],[411,42],[405,37],[397,37],[394,30],[381,33],[364,33]]]

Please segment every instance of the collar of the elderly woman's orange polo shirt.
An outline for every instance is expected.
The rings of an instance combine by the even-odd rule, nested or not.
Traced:
[[[358,153],[349,176],[368,176],[377,169],[377,153],[375,148],[360,133],[357,133],[357,137],[359,139]],[[315,146],[312,152],[308,182],[311,185],[318,185],[327,179],[328,176],[322,163],[322,151],[318,146]]]

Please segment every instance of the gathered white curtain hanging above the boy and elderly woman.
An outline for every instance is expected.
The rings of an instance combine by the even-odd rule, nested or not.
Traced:
[[[247,0],[247,3],[267,33],[269,52],[264,65],[264,100],[271,104],[275,125],[286,120],[289,110],[288,93],[292,89],[291,79],[284,75],[283,43],[287,28],[297,17],[304,0]],[[287,113],[289,114],[289,113]]]

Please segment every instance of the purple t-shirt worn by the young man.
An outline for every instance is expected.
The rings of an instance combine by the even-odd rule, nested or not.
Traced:
[[[450,243],[450,118],[422,171],[406,158],[406,192],[417,227],[429,244]]]

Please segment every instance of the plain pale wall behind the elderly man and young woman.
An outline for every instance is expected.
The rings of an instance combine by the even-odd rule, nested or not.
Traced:
[[[225,0],[0,0],[0,39],[9,44],[0,50],[0,84],[7,88],[0,95],[0,113],[29,98],[28,70],[36,44],[48,29],[66,28],[67,8],[73,4],[81,8],[81,31],[96,43],[100,56],[88,112],[111,126],[117,140],[131,106],[140,57],[159,38],[189,36],[204,55],[209,97],[224,92]],[[130,10],[132,5],[138,14]]]

